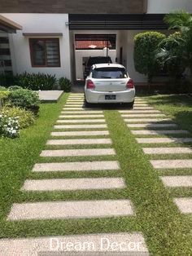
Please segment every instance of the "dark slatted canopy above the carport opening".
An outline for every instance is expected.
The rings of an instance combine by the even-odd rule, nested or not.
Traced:
[[[69,15],[71,30],[162,30],[168,29],[162,14]]]

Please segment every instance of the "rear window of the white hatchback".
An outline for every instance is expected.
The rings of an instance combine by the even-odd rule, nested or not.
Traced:
[[[128,74],[124,68],[94,68],[93,78],[118,79],[127,78]]]

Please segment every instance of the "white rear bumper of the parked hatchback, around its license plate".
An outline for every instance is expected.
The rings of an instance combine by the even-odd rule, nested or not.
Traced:
[[[116,95],[116,99],[105,99],[106,95]],[[86,101],[93,104],[132,103],[134,96],[135,89],[113,92],[85,90]]]

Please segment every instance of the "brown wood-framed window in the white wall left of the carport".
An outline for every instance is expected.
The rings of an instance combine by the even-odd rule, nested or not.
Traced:
[[[60,67],[59,38],[29,39],[33,67]]]

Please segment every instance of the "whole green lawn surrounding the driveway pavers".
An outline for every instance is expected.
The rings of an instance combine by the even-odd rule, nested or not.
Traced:
[[[35,126],[22,131],[19,139],[0,139],[0,237],[62,236],[98,232],[142,232],[154,255],[190,255],[191,219],[180,214],[172,202],[174,192],[164,188],[159,173],[143,154],[141,146],[125,125],[120,113],[106,110],[105,117],[116,157],[70,157],[51,161],[118,160],[120,171],[89,173],[32,173],[33,165],[42,161],[39,154],[50,138],[50,131],[68,95],[59,104],[42,104]],[[155,108],[162,110],[192,132],[191,99],[185,96],[146,97]],[[162,103],[163,102],[163,103]],[[104,136],[103,136],[104,137]],[[95,148],[98,146],[95,146]],[[101,146],[100,146],[101,147]],[[98,147],[98,148],[100,148]],[[46,147],[47,148],[47,147]],[[51,146],[49,147],[51,148]],[[88,148],[73,146],[71,148]],[[94,148],[93,146],[91,148]],[[45,161],[45,160],[44,160]],[[50,161],[49,157],[46,161]],[[109,191],[20,192],[25,179],[124,177],[127,188]],[[176,191],[175,191],[176,192]],[[177,191],[179,195],[179,191]],[[7,222],[11,205],[22,201],[67,201],[129,198],[136,215],[124,218],[91,218],[46,221]]]

